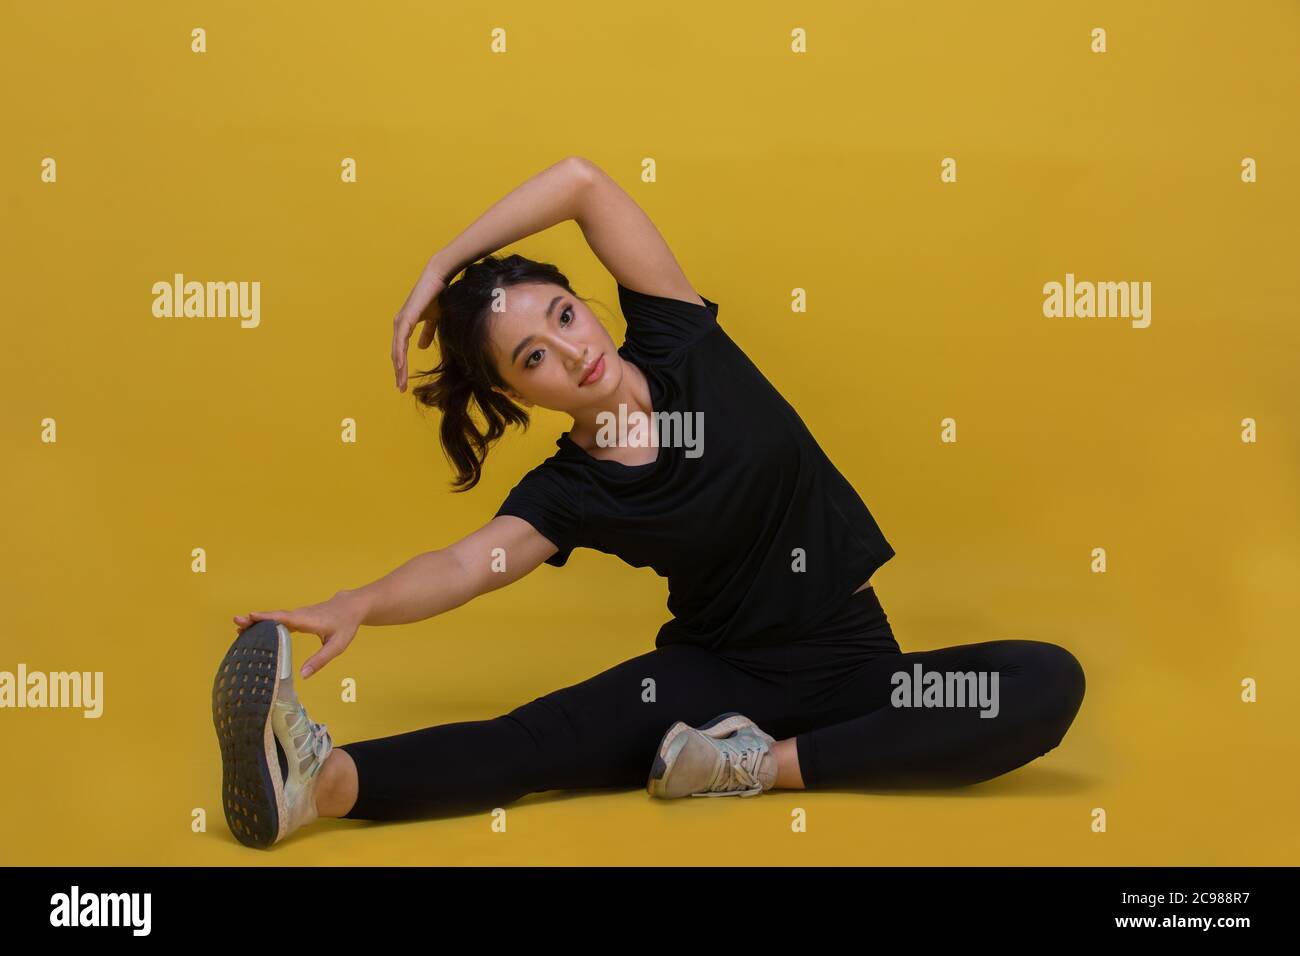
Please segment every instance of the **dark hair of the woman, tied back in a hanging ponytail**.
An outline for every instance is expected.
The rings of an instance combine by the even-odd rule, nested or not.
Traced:
[[[528,412],[491,388],[510,385],[497,373],[489,349],[494,290],[525,282],[551,282],[586,302],[556,267],[521,255],[484,256],[434,299],[434,334],[441,362],[428,372],[416,373],[433,377],[433,381],[417,385],[411,394],[420,405],[442,411],[439,434],[442,450],[456,470],[451,481],[454,492],[468,492],[478,484],[488,449],[504,434],[506,425],[528,428]],[[471,399],[484,418],[484,429],[469,414]]]

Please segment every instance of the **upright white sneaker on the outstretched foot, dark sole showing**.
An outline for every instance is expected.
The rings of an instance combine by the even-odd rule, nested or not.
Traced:
[[[212,684],[212,722],[235,839],[264,849],[317,818],[316,782],[334,743],[294,691],[289,628],[259,620],[235,637]]]

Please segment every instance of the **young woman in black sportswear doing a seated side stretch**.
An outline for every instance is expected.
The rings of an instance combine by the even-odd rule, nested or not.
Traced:
[[[555,267],[480,259],[568,219],[618,282],[621,346]],[[563,411],[573,427],[463,540],[322,604],[234,618],[213,719],[238,839],[268,847],[321,816],[472,813],[543,790],[963,786],[1061,741],[1084,692],[1067,650],[1000,640],[901,652],[871,585],[893,548],[719,312],[636,202],[578,157],[429,260],[394,321],[393,363],[404,392],[416,325],[421,349],[438,339],[441,363],[415,395],[442,412],[454,486],[477,484],[489,446],[526,425],[524,408]],[[823,358],[835,371],[835,354]],[[306,678],[363,624],[459,607],[543,562],[563,567],[580,546],[668,579],[673,618],[654,650],[493,719],[334,747],[307,715],[291,631],[324,644]]]

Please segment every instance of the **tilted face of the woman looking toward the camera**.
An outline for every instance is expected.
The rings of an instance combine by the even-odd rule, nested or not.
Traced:
[[[614,339],[581,299],[550,282],[500,291],[503,312],[489,312],[497,371],[524,405],[577,412],[619,386],[623,360]],[[584,375],[597,376],[584,384]]]

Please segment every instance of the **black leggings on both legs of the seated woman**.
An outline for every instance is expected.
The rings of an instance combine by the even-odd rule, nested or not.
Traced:
[[[984,672],[996,715],[982,717],[992,708],[974,695],[965,706],[952,706],[954,697],[949,706],[898,706],[894,675],[915,678],[918,663],[922,674]],[[675,721],[699,726],[729,710],[777,740],[796,737],[809,790],[965,786],[1060,744],[1083,689],[1074,656],[1043,641],[905,654],[867,588],[794,644],[673,644],[493,719],[343,744],[358,771],[344,817],[416,819],[491,810],[545,790],[645,787]]]

